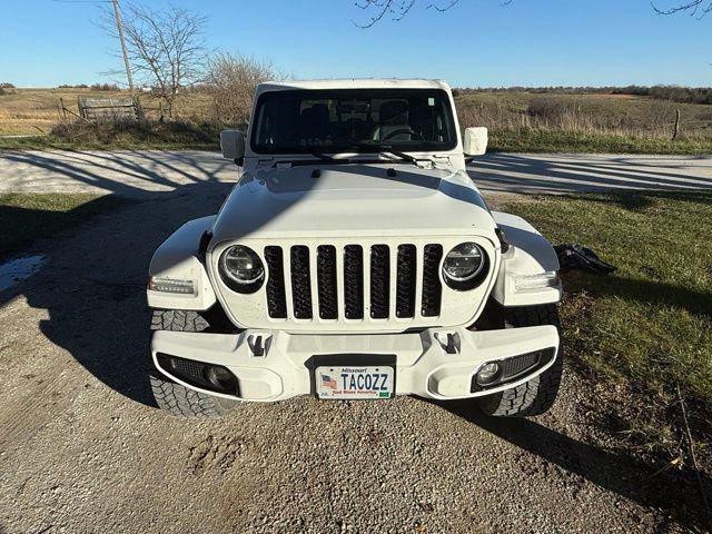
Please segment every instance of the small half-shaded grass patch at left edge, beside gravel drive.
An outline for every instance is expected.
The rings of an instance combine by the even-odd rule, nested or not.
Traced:
[[[127,200],[88,194],[0,195],[0,260],[30,241],[52,237],[89,217],[113,209]]]

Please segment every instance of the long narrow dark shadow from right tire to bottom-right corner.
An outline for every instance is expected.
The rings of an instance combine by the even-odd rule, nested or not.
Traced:
[[[694,532],[709,532],[712,527],[712,517],[706,516],[701,502],[696,473],[691,467],[656,473],[659,466],[644,464],[625,451],[607,451],[584,443],[532,418],[488,417],[472,400],[434,404],[602,490],[657,508]],[[710,494],[712,479],[702,472],[700,477]]]

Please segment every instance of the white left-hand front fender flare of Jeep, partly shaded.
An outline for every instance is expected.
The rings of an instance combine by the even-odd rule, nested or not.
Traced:
[[[204,312],[216,303],[215,290],[201,261],[200,241],[209,231],[215,216],[189,220],[154,253],[148,267],[149,276],[192,280],[195,293],[181,295],[146,289],[148,306],[162,309],[192,309]]]

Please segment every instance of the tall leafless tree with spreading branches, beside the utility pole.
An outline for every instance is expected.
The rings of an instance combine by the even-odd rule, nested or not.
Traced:
[[[166,103],[169,117],[180,90],[204,75],[205,23],[205,17],[175,7],[157,11],[130,4],[123,12],[131,71]],[[116,37],[107,17],[100,26]]]

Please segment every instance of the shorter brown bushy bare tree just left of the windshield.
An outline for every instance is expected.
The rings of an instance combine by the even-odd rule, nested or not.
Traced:
[[[205,88],[212,96],[216,118],[244,127],[249,119],[255,88],[278,78],[281,76],[268,60],[218,52],[208,62]]]

